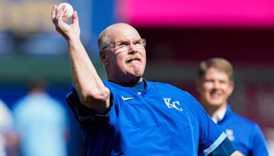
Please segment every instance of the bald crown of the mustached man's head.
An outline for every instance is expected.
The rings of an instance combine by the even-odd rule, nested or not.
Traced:
[[[127,23],[115,23],[106,27],[103,31],[101,31],[101,34],[99,34],[99,51],[101,51],[104,47],[107,47],[110,42],[114,42],[115,37],[119,36],[119,34],[131,34],[132,32],[138,34],[138,31],[132,27],[132,25]]]

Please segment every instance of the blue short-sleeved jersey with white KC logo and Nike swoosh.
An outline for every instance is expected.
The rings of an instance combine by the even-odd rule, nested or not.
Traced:
[[[112,94],[106,115],[70,90],[66,99],[81,124],[86,155],[208,155],[227,138],[188,92],[144,81],[145,90],[103,81]]]

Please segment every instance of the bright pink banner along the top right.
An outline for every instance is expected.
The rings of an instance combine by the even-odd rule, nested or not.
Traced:
[[[274,26],[271,0],[117,0],[119,21],[136,26]]]

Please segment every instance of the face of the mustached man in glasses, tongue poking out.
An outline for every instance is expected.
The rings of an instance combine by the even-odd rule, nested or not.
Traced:
[[[125,25],[110,32],[110,45],[101,57],[108,79],[116,83],[140,81],[145,71],[146,51],[138,31]]]

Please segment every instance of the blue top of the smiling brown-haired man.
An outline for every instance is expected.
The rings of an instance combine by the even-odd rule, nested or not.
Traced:
[[[218,125],[242,154],[269,155],[264,136],[258,125],[232,112],[229,105],[227,105],[223,120],[219,121]]]

